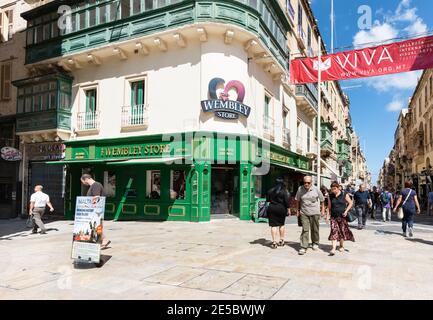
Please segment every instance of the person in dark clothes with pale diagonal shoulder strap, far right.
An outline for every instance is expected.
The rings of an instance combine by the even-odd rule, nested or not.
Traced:
[[[403,208],[403,220],[402,229],[404,237],[413,237],[413,221],[415,214],[420,214],[421,209],[418,202],[418,197],[415,190],[412,190],[413,183],[406,181],[404,183],[404,189],[401,191],[397,203],[394,207],[394,211],[397,211],[400,204]]]

